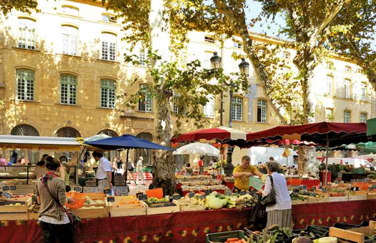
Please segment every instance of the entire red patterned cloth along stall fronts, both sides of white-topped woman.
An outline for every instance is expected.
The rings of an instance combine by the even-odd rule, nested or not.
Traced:
[[[246,226],[252,209],[179,212],[83,220],[76,232],[77,243],[203,243],[209,232],[231,231]],[[302,204],[292,206],[294,229],[316,224],[360,224],[376,220],[376,200]],[[42,243],[37,221],[1,221],[1,242]]]

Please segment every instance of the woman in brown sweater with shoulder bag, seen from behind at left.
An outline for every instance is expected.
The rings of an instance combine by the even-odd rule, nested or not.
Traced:
[[[61,243],[74,243],[74,220],[63,207],[72,200],[65,195],[64,180],[56,174],[60,161],[49,159],[46,168],[47,173],[36,182],[36,196],[40,204],[38,220],[44,243],[55,243],[56,239]]]

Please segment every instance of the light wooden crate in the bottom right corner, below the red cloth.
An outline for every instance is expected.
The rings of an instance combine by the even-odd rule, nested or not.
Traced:
[[[349,230],[342,230],[331,227],[329,229],[329,236],[337,237],[338,243],[365,243],[366,236],[372,237],[375,234],[375,230],[376,222],[370,221],[370,225],[368,227],[360,227]]]

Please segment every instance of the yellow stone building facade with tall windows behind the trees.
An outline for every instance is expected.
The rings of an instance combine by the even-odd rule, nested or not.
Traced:
[[[41,0],[38,9],[0,16],[0,134],[89,137],[105,132],[152,140],[155,104],[151,98],[135,110],[119,112],[123,106],[118,96],[151,83],[143,62],[145,50],[139,45],[130,52],[130,46],[121,41],[121,21],[89,0]],[[188,39],[181,63],[198,59],[210,68],[209,59],[217,51],[226,72],[238,71],[239,61],[231,55],[242,53],[240,42],[226,40],[221,46],[202,32],[190,32]],[[140,65],[125,63],[124,53],[138,55]],[[281,55],[294,70],[294,51]],[[131,85],[135,78],[137,83]],[[363,122],[375,116],[374,90],[356,64],[332,58],[317,67],[312,84],[315,122]],[[259,131],[278,125],[252,68],[250,85],[249,94],[233,98],[233,127]],[[219,107],[219,97],[214,97],[203,108],[210,126],[219,125]],[[228,96],[223,118],[228,125]],[[185,123],[180,132],[193,129]],[[237,148],[233,159],[239,161],[245,153]],[[132,157],[149,154],[140,150]]]

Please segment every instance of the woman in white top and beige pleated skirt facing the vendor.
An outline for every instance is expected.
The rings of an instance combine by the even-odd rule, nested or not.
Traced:
[[[273,206],[266,208],[268,214],[268,222],[266,228],[272,225],[280,227],[289,227],[292,229],[292,216],[291,216],[291,198],[288,194],[286,179],[278,174],[280,165],[277,161],[269,161],[266,164],[268,170],[268,177],[265,181],[265,189],[263,196],[268,196],[272,190],[272,182],[270,176],[273,177],[273,188],[276,192],[277,203]]]

